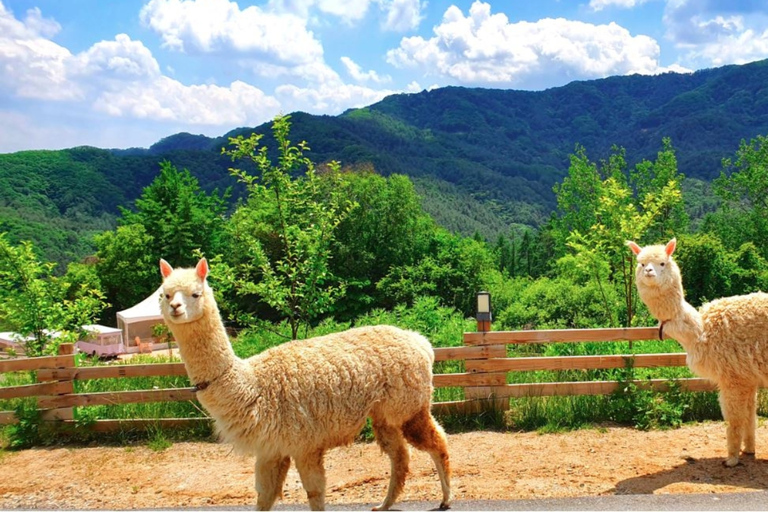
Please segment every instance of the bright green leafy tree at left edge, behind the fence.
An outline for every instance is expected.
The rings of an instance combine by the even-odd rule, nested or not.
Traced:
[[[106,305],[100,290],[58,278],[54,267],[38,260],[30,242],[13,245],[0,233],[0,319],[20,335],[29,356],[76,341]]]

